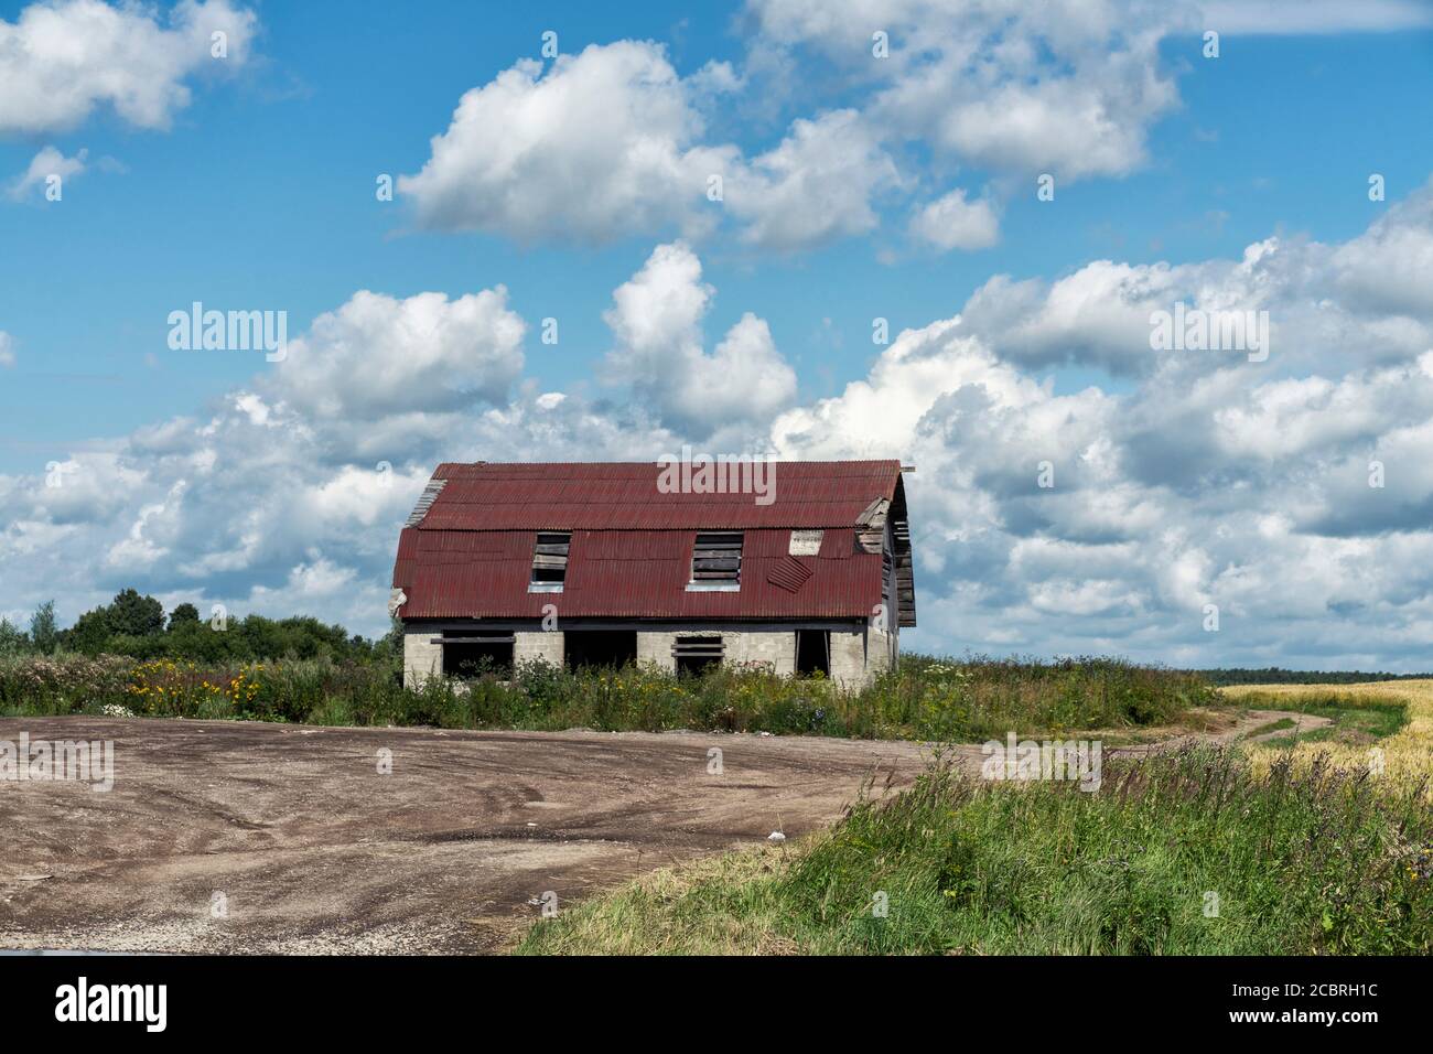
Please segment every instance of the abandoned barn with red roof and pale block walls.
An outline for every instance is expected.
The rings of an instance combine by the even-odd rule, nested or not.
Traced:
[[[754,495],[661,463],[440,465],[393,571],[407,683],[536,658],[867,683],[916,625],[901,465],[764,466]]]

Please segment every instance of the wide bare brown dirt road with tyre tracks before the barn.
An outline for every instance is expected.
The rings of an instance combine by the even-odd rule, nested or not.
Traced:
[[[0,740],[21,731],[113,740],[115,786],[0,782],[0,948],[493,951],[547,893],[560,909],[778,827],[802,835],[870,773],[903,786],[924,756],[686,733],[0,720]]]

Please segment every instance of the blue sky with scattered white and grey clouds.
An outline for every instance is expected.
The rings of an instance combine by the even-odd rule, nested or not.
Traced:
[[[1433,667],[1433,6],[512,7],[0,3],[0,614],[691,443],[914,463],[907,647]]]

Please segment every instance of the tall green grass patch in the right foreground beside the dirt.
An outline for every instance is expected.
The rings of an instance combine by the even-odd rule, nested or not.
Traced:
[[[1108,763],[1093,793],[937,761],[800,845],[648,875],[516,951],[1427,954],[1422,790],[1215,747]]]

